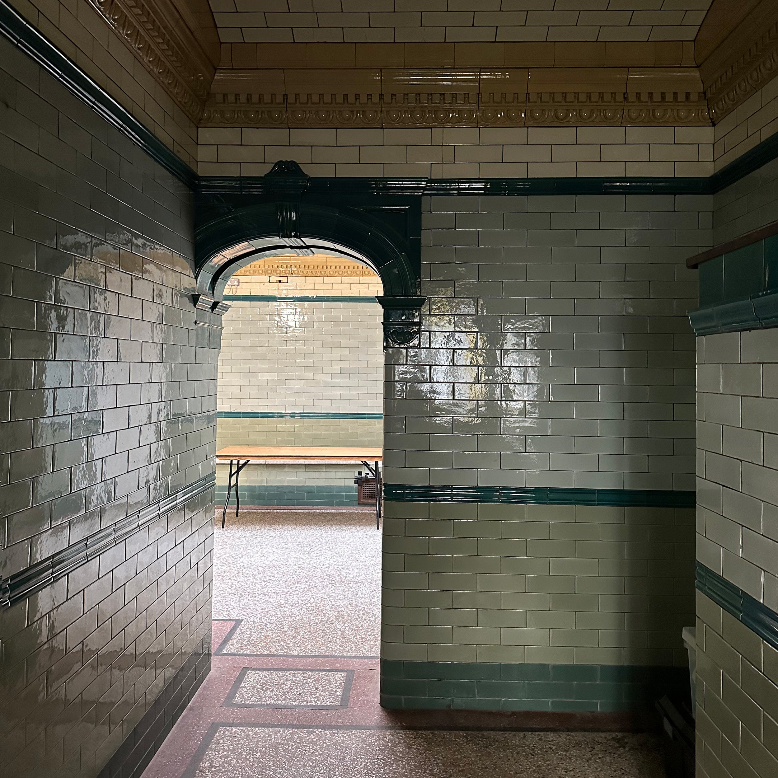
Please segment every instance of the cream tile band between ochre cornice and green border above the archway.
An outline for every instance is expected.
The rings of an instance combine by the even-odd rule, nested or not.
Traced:
[[[708,176],[712,127],[200,128],[198,172],[261,176]]]

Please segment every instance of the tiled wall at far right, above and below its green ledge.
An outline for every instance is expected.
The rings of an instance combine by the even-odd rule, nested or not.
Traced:
[[[772,162],[715,197],[716,242],[778,218]],[[778,611],[778,329],[697,342],[697,559]],[[778,618],[778,617],[776,617]],[[778,771],[778,650],[697,594],[701,776]]]

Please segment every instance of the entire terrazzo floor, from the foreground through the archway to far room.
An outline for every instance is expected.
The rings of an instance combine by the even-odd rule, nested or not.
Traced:
[[[244,510],[214,557],[212,671],[143,778],[664,778],[652,735],[381,709],[370,510]]]

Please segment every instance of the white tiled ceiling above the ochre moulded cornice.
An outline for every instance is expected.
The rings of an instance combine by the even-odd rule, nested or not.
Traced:
[[[692,40],[711,0],[210,0],[224,43]]]

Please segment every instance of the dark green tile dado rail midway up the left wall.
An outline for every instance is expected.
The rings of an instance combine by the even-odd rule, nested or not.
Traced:
[[[90,559],[96,559],[109,548],[113,548],[117,543],[142,530],[143,527],[148,527],[170,511],[181,508],[191,499],[209,492],[215,480],[216,476],[213,473],[205,475],[184,486],[184,489],[179,489],[158,502],[87,535],[86,538],[47,556],[46,559],[41,559],[40,562],[20,570],[19,573],[13,573],[7,578],[0,577],[0,607],[9,608],[14,603],[54,584],[54,581],[60,580]]]

